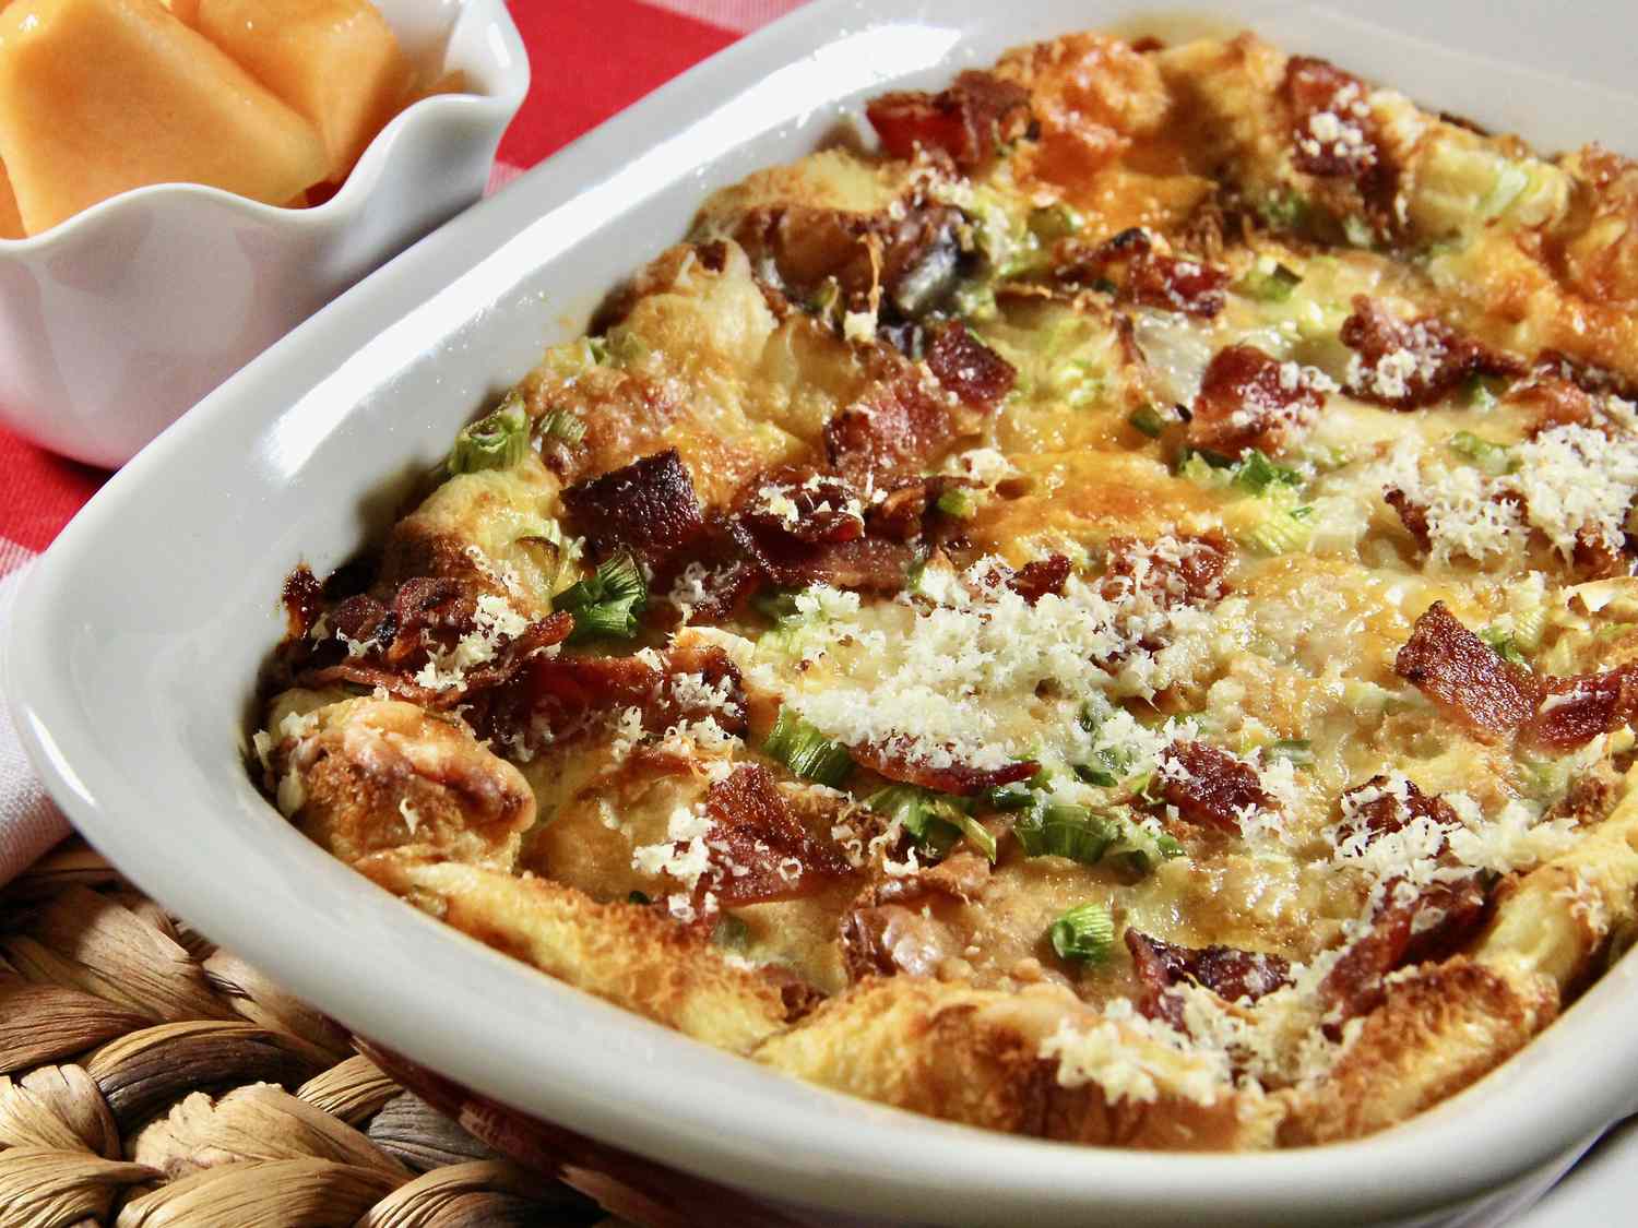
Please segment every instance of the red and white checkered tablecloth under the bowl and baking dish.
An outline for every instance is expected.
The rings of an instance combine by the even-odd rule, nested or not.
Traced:
[[[3,0],[0,0],[3,3]],[[803,0],[508,0],[534,87],[501,141],[491,187]],[[0,355],[0,362],[3,362]],[[0,637],[11,594],[106,478],[0,429]],[[0,704],[0,883],[66,825],[33,779]]]

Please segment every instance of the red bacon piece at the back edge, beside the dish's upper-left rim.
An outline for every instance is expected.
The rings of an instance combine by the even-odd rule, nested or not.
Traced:
[[[939,149],[965,172],[988,165],[1030,123],[1029,90],[973,69],[940,93],[885,93],[865,115],[893,157],[914,157],[917,146]]]

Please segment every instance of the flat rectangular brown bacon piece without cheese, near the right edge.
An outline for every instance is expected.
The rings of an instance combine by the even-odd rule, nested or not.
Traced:
[[[1530,670],[1497,657],[1443,601],[1417,619],[1394,671],[1482,742],[1499,742],[1525,724],[1540,693]]]

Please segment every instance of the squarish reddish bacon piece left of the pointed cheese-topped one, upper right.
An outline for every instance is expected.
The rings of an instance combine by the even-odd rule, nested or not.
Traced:
[[[1189,447],[1230,458],[1248,449],[1273,454],[1324,404],[1325,393],[1309,385],[1296,363],[1255,345],[1228,345],[1206,368],[1186,437]]]

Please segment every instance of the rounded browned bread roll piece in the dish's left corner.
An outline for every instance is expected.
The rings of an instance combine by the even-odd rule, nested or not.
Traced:
[[[342,861],[388,848],[509,869],[534,792],[470,732],[395,699],[287,716],[269,755],[278,809]]]

